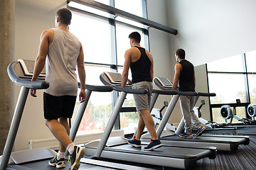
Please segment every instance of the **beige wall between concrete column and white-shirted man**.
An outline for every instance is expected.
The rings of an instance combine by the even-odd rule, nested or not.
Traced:
[[[55,11],[65,6],[65,0],[16,0],[15,6],[15,60],[35,60],[43,30],[55,26]],[[15,102],[20,87],[15,85]],[[28,95],[26,107],[18,129],[14,151],[28,149],[28,140],[53,137],[43,118],[43,91],[38,97]]]

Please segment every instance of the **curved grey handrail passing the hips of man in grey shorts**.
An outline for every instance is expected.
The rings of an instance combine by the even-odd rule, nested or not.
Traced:
[[[119,92],[124,91],[127,94],[147,94],[148,93],[146,89],[128,89],[127,87],[115,86],[114,84],[111,84],[109,81],[107,81],[103,77],[104,74],[105,74],[104,72],[100,74],[100,80],[102,81],[103,84],[112,86],[114,91],[119,91]]]

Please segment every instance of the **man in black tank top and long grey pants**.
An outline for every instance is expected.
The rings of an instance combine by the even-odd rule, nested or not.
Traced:
[[[173,81],[173,90],[177,89],[179,91],[195,91],[196,86],[196,77],[193,64],[185,60],[185,51],[183,49],[176,50],[176,61],[178,62],[175,65],[175,74]],[[192,121],[195,123],[198,128],[196,137],[202,135],[203,131],[206,128],[203,127],[203,124],[198,120],[196,114],[193,111],[194,96],[180,96],[179,98],[181,104],[181,112],[184,117],[185,123],[185,132],[182,135],[179,135],[181,138],[193,138],[192,135]]]

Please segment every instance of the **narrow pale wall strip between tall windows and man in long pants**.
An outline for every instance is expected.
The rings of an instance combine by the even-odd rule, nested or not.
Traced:
[[[166,1],[169,0],[147,0],[148,19],[168,26],[168,18],[166,17],[167,10]],[[149,45],[150,52],[154,57],[154,77],[165,77],[172,81],[174,79],[174,65],[176,64],[174,52],[171,52],[173,45],[170,43],[170,38],[175,38],[176,35],[165,33],[161,30],[149,28]],[[156,86],[154,86],[156,88]],[[157,89],[157,88],[156,88]],[[170,96],[159,96],[154,108],[161,108],[164,101],[171,101]],[[163,113],[166,110],[163,111]],[[169,118],[169,123],[179,123],[181,120],[181,109],[179,102],[176,103],[173,113]]]

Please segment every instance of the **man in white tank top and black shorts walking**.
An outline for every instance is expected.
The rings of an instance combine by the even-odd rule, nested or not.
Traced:
[[[68,30],[71,18],[68,8],[60,8],[55,18],[57,28],[43,30],[31,81],[36,81],[46,64],[46,80],[50,87],[43,94],[44,117],[50,132],[60,142],[58,154],[49,164],[65,167],[64,154],[68,149],[73,170],[79,169],[80,159],[85,154],[85,149],[75,146],[69,138],[68,118],[73,115],[78,94],[76,68],[81,83],[80,102],[85,101],[86,94],[84,55],[80,41]],[[36,89],[31,89],[31,96],[36,97]]]

